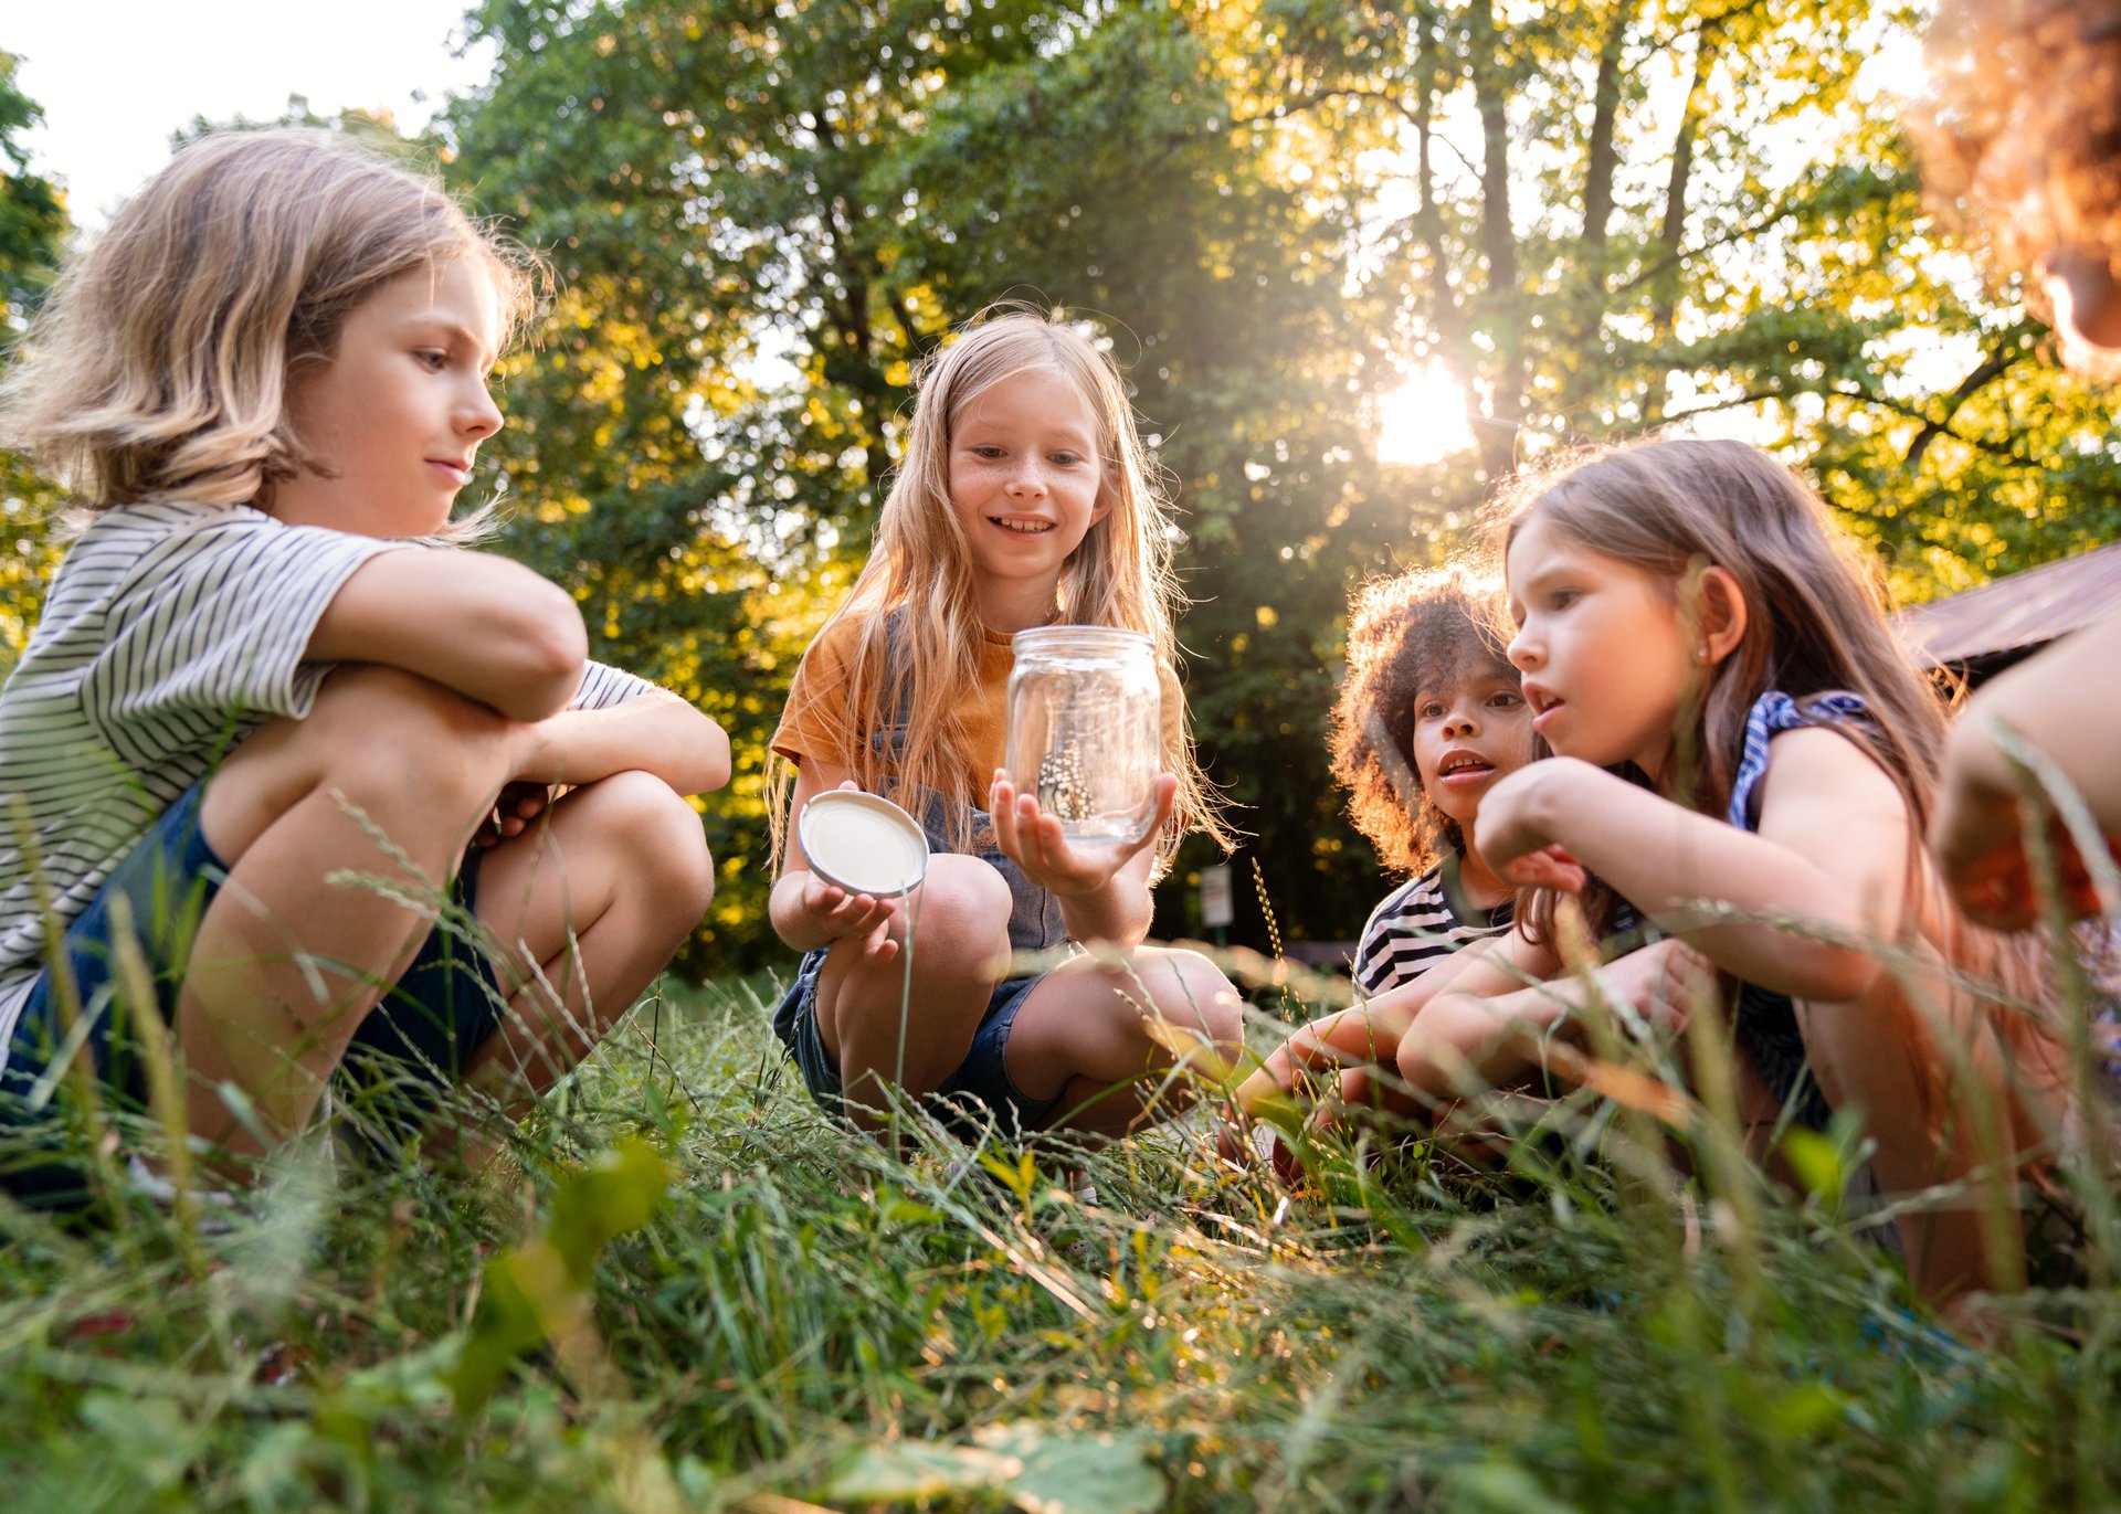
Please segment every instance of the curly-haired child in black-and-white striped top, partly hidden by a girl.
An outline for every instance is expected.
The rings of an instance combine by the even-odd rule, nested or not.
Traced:
[[[1510,927],[1514,891],[1474,850],[1480,797],[1531,759],[1500,621],[1500,594],[1463,568],[1379,579],[1349,609],[1334,776],[1385,865],[1415,874],[1362,927],[1355,986],[1366,999]],[[1370,1071],[1391,1064],[1402,1028],[1366,1007],[1315,1020],[1239,1088],[1239,1107],[1290,1092],[1319,1060],[1343,1067],[1345,1101],[1372,1101]]]

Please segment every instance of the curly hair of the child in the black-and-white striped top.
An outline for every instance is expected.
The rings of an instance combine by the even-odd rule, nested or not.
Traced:
[[[1495,672],[1514,681],[1502,594],[1463,566],[1372,579],[1347,613],[1347,679],[1332,712],[1332,776],[1385,865],[1421,872],[1438,846],[1463,852],[1459,827],[1421,789],[1415,696]]]

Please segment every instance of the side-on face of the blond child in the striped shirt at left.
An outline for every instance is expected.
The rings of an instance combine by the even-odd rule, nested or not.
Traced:
[[[288,382],[286,413],[314,466],[274,488],[271,513],[361,536],[439,530],[479,443],[501,430],[488,392],[498,331],[494,282],[462,257],[358,303],[331,358]]]

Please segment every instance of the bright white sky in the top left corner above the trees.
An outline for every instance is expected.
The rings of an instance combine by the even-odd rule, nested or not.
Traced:
[[[11,0],[0,51],[45,110],[32,170],[62,180],[74,225],[98,229],[170,157],[195,117],[271,119],[288,95],[318,115],[388,110],[424,125],[490,72],[456,57],[469,0]]]

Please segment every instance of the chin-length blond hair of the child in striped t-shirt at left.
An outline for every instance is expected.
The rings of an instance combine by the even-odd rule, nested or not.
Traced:
[[[0,380],[0,439],[87,509],[267,503],[314,464],[286,418],[297,367],[378,288],[460,257],[511,335],[534,261],[431,178],[327,131],[199,138],[62,274]]]

